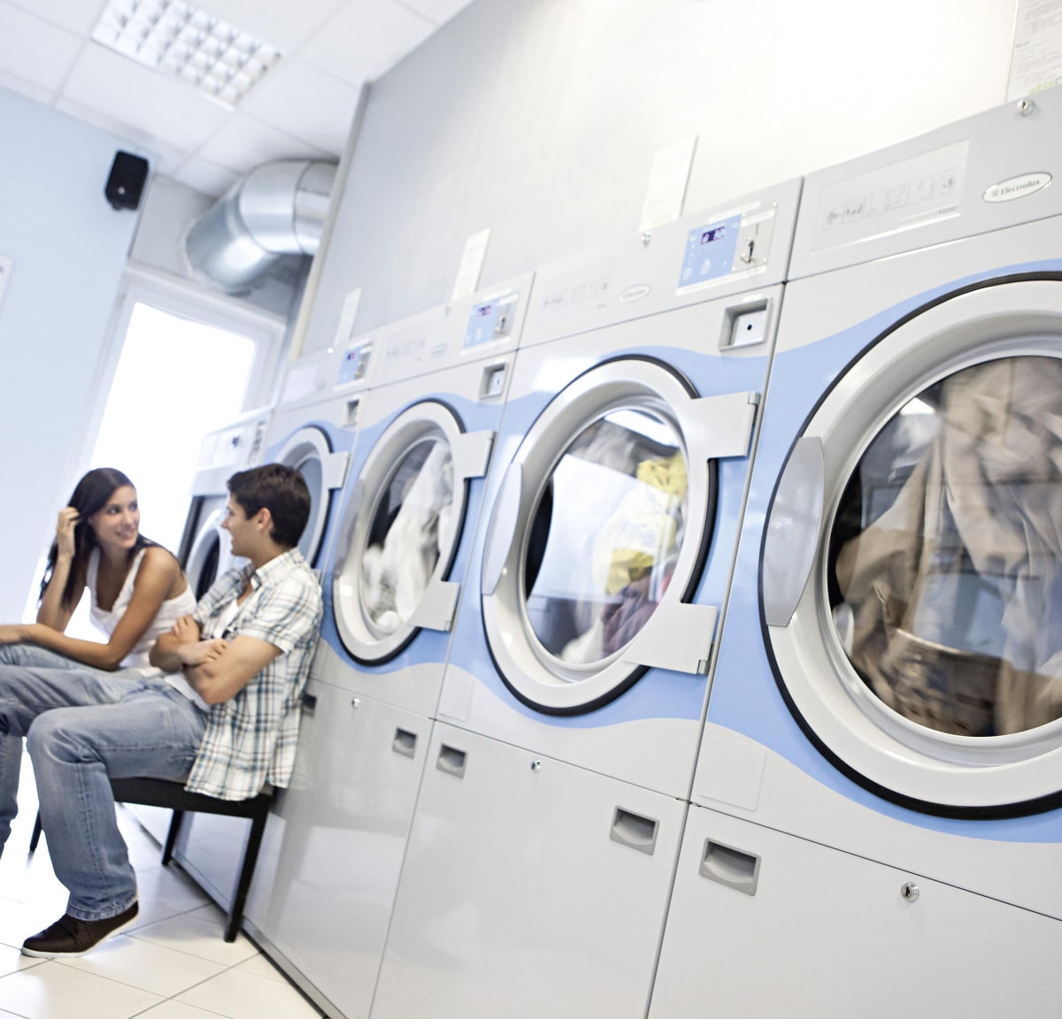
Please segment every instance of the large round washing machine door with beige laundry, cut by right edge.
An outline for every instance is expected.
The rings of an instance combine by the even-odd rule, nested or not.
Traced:
[[[1062,280],[957,293],[849,367],[774,493],[760,598],[851,777],[952,816],[1062,802]]]

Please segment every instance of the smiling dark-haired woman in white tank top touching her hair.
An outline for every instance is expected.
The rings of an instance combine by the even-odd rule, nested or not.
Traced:
[[[65,633],[86,588],[90,618],[106,643]],[[177,560],[140,534],[133,483],[120,470],[99,467],[59,511],[37,621],[0,626],[0,664],[147,667],[156,638],[194,607]]]

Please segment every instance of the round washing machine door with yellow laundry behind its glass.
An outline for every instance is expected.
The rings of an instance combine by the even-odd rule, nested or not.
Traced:
[[[562,390],[517,449],[486,535],[482,611],[524,704],[579,714],[612,701],[650,663],[650,620],[686,607],[717,487],[704,430],[690,427],[697,402],[666,365],[604,362]]]

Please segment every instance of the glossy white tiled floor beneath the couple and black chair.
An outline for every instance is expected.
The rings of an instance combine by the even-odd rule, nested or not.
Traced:
[[[242,934],[222,938],[224,916],[119,807],[137,868],[140,915],[81,958],[29,958],[18,946],[62,916],[66,890],[47,839],[29,854],[36,814],[29,761],[19,816],[0,858],[0,1019],[318,1019],[320,1013]]]

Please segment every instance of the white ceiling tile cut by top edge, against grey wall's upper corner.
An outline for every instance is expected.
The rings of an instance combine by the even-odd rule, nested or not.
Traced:
[[[394,0],[348,3],[302,54],[357,85],[374,81],[434,31],[426,18]]]

